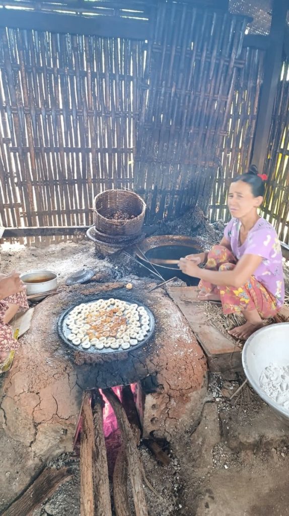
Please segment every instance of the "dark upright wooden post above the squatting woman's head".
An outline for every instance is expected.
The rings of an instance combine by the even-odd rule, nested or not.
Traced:
[[[251,159],[251,163],[257,165],[260,172],[263,171],[267,155],[271,118],[280,80],[286,14],[287,0],[275,0]]]

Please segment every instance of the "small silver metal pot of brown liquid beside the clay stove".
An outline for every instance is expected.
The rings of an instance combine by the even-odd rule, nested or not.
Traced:
[[[26,286],[27,296],[46,294],[57,289],[57,274],[52,270],[30,270],[20,276]],[[37,297],[40,301],[43,297]],[[32,298],[31,298],[32,300]]]

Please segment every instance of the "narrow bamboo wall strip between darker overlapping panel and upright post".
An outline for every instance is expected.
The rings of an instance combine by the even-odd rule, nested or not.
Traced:
[[[263,51],[243,49],[245,66],[238,69],[233,93],[227,135],[219,149],[219,169],[213,187],[209,217],[211,221],[231,218],[227,192],[232,178],[246,172],[257,119],[258,101],[263,78]]]

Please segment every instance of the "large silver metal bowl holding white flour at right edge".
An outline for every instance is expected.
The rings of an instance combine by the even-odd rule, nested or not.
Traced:
[[[245,342],[242,353],[244,372],[252,388],[286,423],[289,423],[289,410],[278,405],[263,391],[260,376],[265,367],[272,363],[280,366],[289,364],[288,342],[289,322],[279,322],[253,333]]]

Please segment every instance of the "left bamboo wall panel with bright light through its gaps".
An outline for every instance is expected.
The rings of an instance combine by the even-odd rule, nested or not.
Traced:
[[[132,188],[143,43],[2,30],[3,225],[91,223],[92,200]]]

